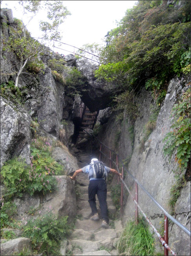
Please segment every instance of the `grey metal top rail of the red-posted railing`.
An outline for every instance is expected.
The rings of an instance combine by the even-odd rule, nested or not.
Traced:
[[[87,133],[89,134],[89,132],[87,132]],[[99,141],[102,145],[104,145],[104,143],[102,143],[99,139],[97,139],[95,135],[93,135],[93,134],[89,134],[89,135],[95,137],[95,139],[96,139],[97,141]],[[104,146],[105,146],[106,148],[108,148],[109,150],[113,151],[113,152],[118,156],[118,158],[120,159],[119,155],[118,155],[114,150],[110,149],[110,148],[107,147],[106,145],[104,145]],[[99,150],[99,151],[100,151],[100,150]],[[101,152],[101,151],[100,151],[100,152]],[[103,152],[102,152],[102,154],[103,154],[104,156],[106,156],[106,154],[104,154]],[[108,157],[106,156],[106,158],[108,158]],[[108,159],[111,160],[111,158],[108,158]],[[111,161],[113,161],[113,160],[111,160]],[[115,163],[115,162],[113,161],[113,163]],[[116,165],[116,163],[115,163],[115,165]],[[131,176],[131,178],[133,178],[133,180],[135,180],[135,182],[141,187],[141,189],[151,198],[151,200],[156,204],[156,206],[158,206],[158,208],[160,208],[160,210],[163,211],[163,213],[164,213],[169,219],[171,219],[171,221],[173,221],[173,223],[175,223],[177,226],[179,226],[179,228],[181,228],[186,234],[188,234],[189,236],[191,236],[191,232],[190,232],[186,227],[184,227],[179,221],[177,221],[173,216],[171,216],[171,215],[155,200],[155,198],[153,198],[153,197],[151,196],[151,194],[140,184],[140,182],[138,182],[138,180],[126,169],[126,167],[124,166],[123,163],[122,163],[122,166],[124,167],[124,169],[126,170],[126,172]],[[116,167],[117,167],[117,165],[116,165]],[[117,171],[119,172],[118,167],[117,167]],[[122,178],[121,178],[121,180],[122,180]],[[122,182],[124,183],[123,180],[122,180]],[[125,183],[124,183],[124,184],[125,184]]]

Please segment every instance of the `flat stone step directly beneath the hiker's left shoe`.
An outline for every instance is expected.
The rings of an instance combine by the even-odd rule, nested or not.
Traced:
[[[77,229],[83,229],[85,231],[91,231],[91,230],[99,230],[101,228],[102,221],[92,221],[90,219],[87,220],[76,220],[76,228]]]

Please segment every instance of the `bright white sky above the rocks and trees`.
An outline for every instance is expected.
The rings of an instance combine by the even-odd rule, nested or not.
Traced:
[[[120,21],[127,9],[130,9],[135,5],[137,1],[114,1],[114,0],[91,0],[80,1],[71,0],[63,1],[64,6],[71,12],[70,16],[67,16],[65,22],[61,25],[63,32],[63,43],[67,43],[76,47],[81,47],[87,43],[102,43],[102,39],[107,32],[113,28],[116,28],[116,22]],[[22,19],[22,10],[15,10],[14,7],[18,7],[17,1],[9,0],[3,1],[1,8],[10,8],[13,11],[13,17]],[[20,8],[20,6],[19,6]],[[27,26],[32,37],[38,37],[38,19],[43,20],[43,11],[39,13]],[[23,21],[26,21],[23,17]],[[58,46],[59,47],[59,46]],[[74,51],[71,46],[62,45],[65,50]],[[77,49],[75,49],[76,51]],[[55,52],[63,53],[65,55],[69,52],[59,50],[55,48]]]

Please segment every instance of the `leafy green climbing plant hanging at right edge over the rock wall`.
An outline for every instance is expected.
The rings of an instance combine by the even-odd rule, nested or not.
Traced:
[[[183,93],[178,104],[174,104],[171,117],[173,117],[173,124],[163,140],[164,155],[169,155],[171,159],[172,154],[175,154],[176,161],[178,161],[180,169],[187,167],[190,159],[190,88]]]

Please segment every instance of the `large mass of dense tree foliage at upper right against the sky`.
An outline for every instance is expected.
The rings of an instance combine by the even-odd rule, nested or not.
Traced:
[[[170,5],[167,1],[138,1],[127,9],[118,27],[106,35],[96,78],[105,81],[116,99],[124,94],[119,100],[145,83],[157,104],[161,104],[169,79],[189,72],[189,10],[187,0]]]

